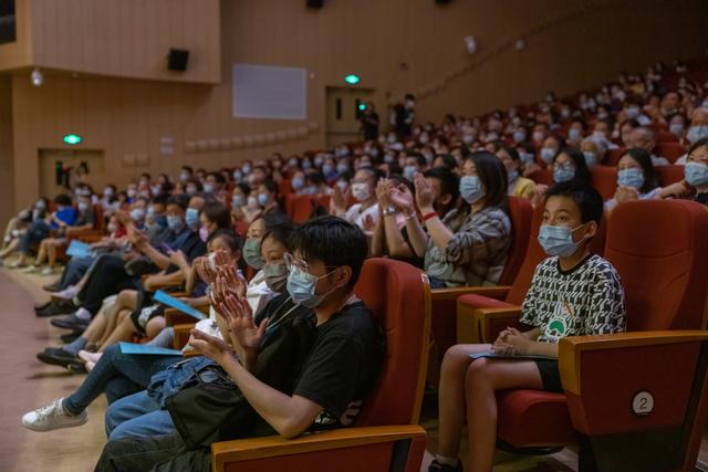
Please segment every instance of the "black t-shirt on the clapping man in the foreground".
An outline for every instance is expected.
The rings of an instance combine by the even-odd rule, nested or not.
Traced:
[[[293,392],[324,408],[310,430],[354,422],[376,381],[383,355],[383,334],[362,302],[345,305],[317,326]]]

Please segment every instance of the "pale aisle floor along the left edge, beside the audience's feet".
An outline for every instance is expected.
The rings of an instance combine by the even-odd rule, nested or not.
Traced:
[[[32,305],[48,300],[42,283],[48,279],[0,269],[0,471],[92,471],[105,443],[105,397],[79,428],[38,433],[20,422],[24,412],[71,394],[83,379],[34,357],[46,346],[60,346],[65,333],[34,316]]]

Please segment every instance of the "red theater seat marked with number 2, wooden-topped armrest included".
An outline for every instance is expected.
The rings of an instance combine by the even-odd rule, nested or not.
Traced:
[[[568,409],[558,394],[502,392],[499,438],[521,448],[582,433],[597,470],[693,470],[708,417],[708,212],[683,200],[617,207],[605,256],[635,333],[563,338]]]

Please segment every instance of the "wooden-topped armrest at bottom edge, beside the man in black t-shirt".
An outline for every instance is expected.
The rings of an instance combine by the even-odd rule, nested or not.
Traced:
[[[423,428],[409,424],[344,428],[295,439],[277,436],[216,442],[211,444],[211,470],[223,472],[228,465],[231,465],[229,470],[238,470],[235,463],[242,463],[247,470],[263,472],[296,469],[294,465],[304,463],[311,464],[311,470],[316,470],[317,463],[331,463],[334,453],[341,459],[336,470],[386,471],[394,460],[399,459],[392,458],[392,454],[403,452],[406,466],[398,470],[417,472],[423,461],[425,439]],[[408,448],[397,448],[397,443],[407,443]],[[323,461],[324,458],[329,459]]]

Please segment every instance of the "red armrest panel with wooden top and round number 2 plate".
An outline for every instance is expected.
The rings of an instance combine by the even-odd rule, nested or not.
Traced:
[[[707,365],[705,331],[572,336],[559,344],[571,420],[587,436],[691,428]]]

